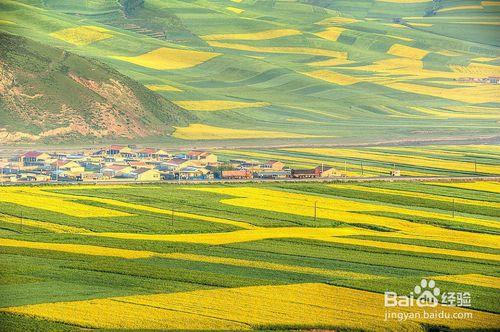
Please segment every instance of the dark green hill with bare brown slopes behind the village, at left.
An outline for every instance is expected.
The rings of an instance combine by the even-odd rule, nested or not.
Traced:
[[[94,59],[0,33],[2,142],[166,136],[194,115]]]

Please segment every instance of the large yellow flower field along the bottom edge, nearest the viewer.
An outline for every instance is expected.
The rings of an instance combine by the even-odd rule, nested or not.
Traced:
[[[498,315],[493,313],[439,305],[426,311],[443,310],[448,314],[473,312],[473,318],[384,321],[385,308],[380,303],[383,303],[382,294],[308,283],[132,295],[1,310],[89,328],[112,329],[241,330],[259,325],[332,325],[374,331],[423,331],[421,323],[451,328],[494,328],[498,319]],[[415,312],[423,309],[399,310]],[[103,312],[113,314],[103,315]]]

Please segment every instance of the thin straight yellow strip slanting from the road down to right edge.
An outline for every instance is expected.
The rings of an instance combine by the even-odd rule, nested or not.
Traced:
[[[441,195],[436,195],[436,194],[418,193],[415,191],[404,191],[404,190],[396,190],[396,189],[384,189],[384,188],[373,188],[373,187],[365,187],[365,186],[357,186],[357,185],[341,185],[341,184],[332,184],[332,185],[329,185],[329,187],[339,188],[339,189],[358,190],[358,191],[372,192],[372,193],[380,193],[380,194],[398,195],[398,196],[404,196],[404,197],[432,199],[435,201],[441,201],[441,202],[447,202],[447,203],[452,203],[453,201],[455,201],[455,203],[459,203],[459,204],[487,206],[487,207],[500,209],[500,203],[496,203],[496,202],[477,201],[477,200],[465,199],[465,198],[460,198],[460,197],[448,197],[448,196],[441,196]]]

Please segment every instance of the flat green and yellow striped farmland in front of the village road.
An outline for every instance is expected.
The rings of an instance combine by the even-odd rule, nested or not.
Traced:
[[[2,187],[0,326],[498,329],[499,217],[498,182]],[[421,279],[470,306],[385,321]]]

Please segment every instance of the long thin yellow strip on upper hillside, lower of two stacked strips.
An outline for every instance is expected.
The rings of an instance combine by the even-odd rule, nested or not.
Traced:
[[[325,57],[347,59],[347,52],[333,51],[320,48],[307,48],[307,47],[271,47],[271,46],[251,46],[236,43],[224,43],[218,41],[209,41],[208,44],[212,47],[227,48],[239,51],[259,52],[259,53],[282,53],[282,54],[307,54],[307,55],[321,55]]]

